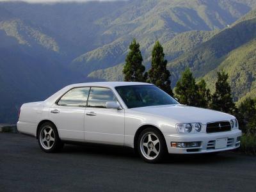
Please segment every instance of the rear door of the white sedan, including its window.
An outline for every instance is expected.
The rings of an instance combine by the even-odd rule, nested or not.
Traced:
[[[84,141],[84,111],[90,87],[72,88],[50,109],[61,140]]]

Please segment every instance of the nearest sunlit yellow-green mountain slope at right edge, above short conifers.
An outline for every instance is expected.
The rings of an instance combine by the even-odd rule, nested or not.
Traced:
[[[214,68],[204,76],[205,81],[207,81],[209,88],[212,90],[214,90],[214,84],[217,80],[216,74],[220,70],[225,70],[228,73],[228,81],[232,87],[235,100],[244,96],[255,97],[256,38],[229,52],[217,68]]]

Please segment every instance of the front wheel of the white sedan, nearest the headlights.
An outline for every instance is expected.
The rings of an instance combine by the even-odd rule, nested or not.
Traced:
[[[147,163],[160,163],[167,151],[163,135],[151,127],[140,133],[137,149],[141,158]]]

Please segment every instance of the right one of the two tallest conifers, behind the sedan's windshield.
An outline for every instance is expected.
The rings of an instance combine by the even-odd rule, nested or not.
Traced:
[[[164,90],[164,92],[173,96],[170,71],[166,68],[167,60],[164,60],[163,47],[156,41],[152,51],[151,68],[148,70],[148,82],[155,84],[157,87]]]

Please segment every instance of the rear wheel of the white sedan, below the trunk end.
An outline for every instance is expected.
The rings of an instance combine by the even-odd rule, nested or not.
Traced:
[[[47,153],[59,152],[64,146],[59,138],[56,126],[51,122],[46,122],[39,127],[38,144]]]

